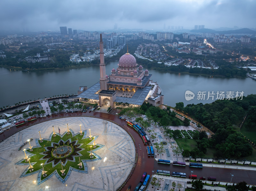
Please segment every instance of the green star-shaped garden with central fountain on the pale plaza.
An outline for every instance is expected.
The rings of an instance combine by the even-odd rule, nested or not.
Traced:
[[[71,132],[70,134],[68,134]],[[86,162],[101,159],[94,151],[104,145],[96,144],[98,136],[86,136],[86,130],[74,134],[69,129],[64,134],[51,133],[49,139],[36,139],[36,146],[24,149],[22,160],[16,165],[28,165],[20,177],[38,173],[37,184],[50,179],[53,174],[62,182],[72,171],[88,173]]]

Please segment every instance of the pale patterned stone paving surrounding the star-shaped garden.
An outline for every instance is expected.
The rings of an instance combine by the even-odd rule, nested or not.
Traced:
[[[22,149],[27,148],[26,144],[20,151],[19,146],[29,138],[31,146],[35,146],[35,139],[39,138],[38,131],[41,131],[42,138],[49,138],[52,133],[52,125],[55,132],[63,134],[68,128],[74,133],[89,128],[92,136],[98,136],[95,143],[104,145],[95,153],[102,159],[86,162],[88,173],[78,173],[72,171],[68,180],[63,184],[55,175],[44,183],[37,185],[37,175],[33,174],[26,177],[20,175],[28,167],[26,165],[15,165],[25,157]],[[36,124],[24,129],[0,143],[0,190],[116,190],[128,177],[135,161],[135,147],[132,138],[127,132],[118,125],[98,118],[91,117],[68,117]],[[103,162],[103,159],[107,160]]]

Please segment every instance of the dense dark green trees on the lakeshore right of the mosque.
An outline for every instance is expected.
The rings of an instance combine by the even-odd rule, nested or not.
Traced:
[[[252,154],[252,147],[239,132],[237,124],[248,113],[245,126],[255,129],[255,110],[256,95],[248,95],[242,100],[216,100],[211,104],[188,104],[184,107],[185,113],[195,116],[197,121],[215,132],[210,139],[205,131],[193,136],[198,150],[205,153],[207,147],[214,148],[214,156],[218,158],[242,158]]]

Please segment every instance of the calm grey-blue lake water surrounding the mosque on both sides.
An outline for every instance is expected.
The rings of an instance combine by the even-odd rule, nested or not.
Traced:
[[[108,75],[111,74],[113,68],[117,68],[117,63],[118,61],[109,62],[106,65]],[[173,107],[177,102],[183,102],[184,105],[211,103],[216,100],[218,91],[225,92],[224,94],[229,91],[235,92],[234,94],[239,92],[239,95],[240,92],[244,92],[244,96],[256,94],[256,81],[251,78],[197,76],[151,69],[149,74],[153,74],[151,80],[159,84],[164,95],[164,104]],[[0,68],[0,107],[30,99],[49,98],[60,94],[77,94],[79,86],[90,87],[99,79],[99,66],[47,72],[24,72]],[[185,99],[187,90],[194,93],[194,99]],[[197,100],[199,91],[205,92],[204,99],[200,97],[200,100]],[[208,92],[213,94],[206,100]]]

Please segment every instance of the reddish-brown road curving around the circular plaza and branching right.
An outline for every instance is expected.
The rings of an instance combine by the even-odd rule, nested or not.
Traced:
[[[12,134],[26,128],[29,125],[36,124],[38,122],[44,122],[46,120],[54,119],[57,117],[72,117],[72,116],[95,116],[102,119],[107,119],[111,121],[115,121],[124,129],[126,129],[135,139],[135,147],[137,147],[138,159],[136,163],[136,167],[132,172],[131,177],[129,180],[127,179],[127,183],[125,184],[122,190],[127,190],[128,186],[131,185],[131,190],[137,186],[140,182],[140,178],[144,172],[147,172],[149,175],[152,175],[152,171],[156,173],[156,170],[168,170],[170,172],[182,172],[187,173],[187,177],[191,174],[190,171],[193,171],[193,174],[196,174],[199,178],[200,176],[215,176],[217,177],[217,181],[222,182],[230,182],[231,175],[234,174],[232,178],[232,182],[241,182],[245,181],[247,184],[255,184],[256,182],[256,173],[255,171],[248,171],[248,170],[240,170],[240,169],[228,169],[228,168],[214,168],[214,167],[203,167],[202,169],[197,168],[189,168],[188,165],[186,167],[181,166],[173,166],[173,165],[164,165],[158,164],[157,161],[153,157],[148,157],[146,146],[138,134],[137,131],[129,128],[126,125],[124,120],[119,119],[119,117],[111,114],[100,113],[100,112],[86,112],[86,113],[59,113],[59,114],[52,114],[52,116],[44,117],[44,118],[37,118],[36,121],[26,122],[26,124],[19,126],[19,127],[12,127],[7,131],[4,131],[3,134],[0,135],[0,140],[4,140],[5,138],[11,136]]]

